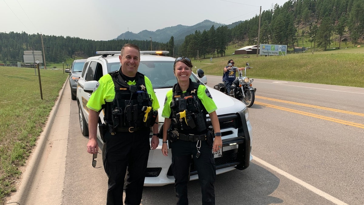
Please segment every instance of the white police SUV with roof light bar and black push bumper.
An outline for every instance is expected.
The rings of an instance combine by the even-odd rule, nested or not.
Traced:
[[[177,83],[173,73],[175,58],[162,56],[168,51],[141,51],[141,60],[138,71],[145,74],[153,84],[159,104],[163,104],[168,90]],[[92,91],[97,81],[103,75],[111,71],[118,70],[120,67],[120,51],[96,52],[99,56],[90,57],[86,60],[81,77],[77,85],[77,102],[79,109],[79,121],[81,132],[88,136],[88,108],[86,107]],[[191,80],[201,84],[206,84],[206,76],[199,72],[200,76],[192,73]],[[252,150],[252,126],[249,121],[248,108],[241,101],[229,97],[213,88],[207,87],[217,105],[217,115],[219,118],[222,134],[222,149],[214,153],[216,174],[225,173],[234,169],[243,170],[249,166],[253,159]],[[164,118],[162,115],[163,106],[158,110],[159,113],[159,146],[155,150],[150,150],[145,186],[163,186],[174,183],[171,169],[171,154],[162,155],[162,132]],[[104,113],[100,112],[100,120],[103,122]],[[207,124],[211,121],[207,116]],[[151,138],[152,134],[150,135]],[[97,135],[102,151],[107,144],[103,144],[99,132]],[[197,170],[191,160],[190,180],[198,179]]]

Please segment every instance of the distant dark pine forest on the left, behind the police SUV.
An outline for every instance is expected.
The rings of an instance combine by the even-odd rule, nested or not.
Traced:
[[[173,36],[168,43],[150,42],[149,40],[87,40],[76,37],[43,35],[46,62],[62,62],[68,58],[88,58],[95,56],[96,51],[119,51],[126,43],[134,43],[141,50],[167,50],[173,54]],[[42,51],[40,34],[25,32],[0,32],[0,63],[23,62],[24,51]]]

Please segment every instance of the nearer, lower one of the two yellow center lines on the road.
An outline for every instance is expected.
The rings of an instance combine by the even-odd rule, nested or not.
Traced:
[[[298,110],[294,110],[294,109],[290,109],[290,108],[284,108],[284,107],[271,105],[271,104],[266,104],[266,103],[262,103],[262,102],[254,102],[254,103],[257,104],[257,105],[264,105],[264,106],[270,107],[270,108],[280,109],[280,110],[283,110],[283,111],[293,112],[293,113],[297,113],[297,114],[300,114],[300,115],[306,115],[306,116],[310,116],[310,117],[316,117],[318,119],[328,120],[328,121],[332,121],[332,122],[335,122],[335,123],[350,125],[350,126],[353,126],[353,127],[359,127],[359,128],[364,129],[364,125],[359,124],[359,123],[353,123],[353,122],[349,122],[349,121],[345,121],[345,120],[339,120],[339,119],[332,118],[332,117],[316,115],[316,114],[309,113],[309,112],[298,111]]]

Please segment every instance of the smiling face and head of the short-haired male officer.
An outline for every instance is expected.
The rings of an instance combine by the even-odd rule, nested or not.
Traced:
[[[119,55],[119,60],[123,74],[128,77],[135,77],[140,62],[139,51],[133,47],[124,47],[122,53]]]

